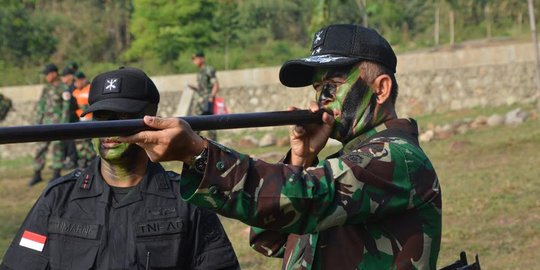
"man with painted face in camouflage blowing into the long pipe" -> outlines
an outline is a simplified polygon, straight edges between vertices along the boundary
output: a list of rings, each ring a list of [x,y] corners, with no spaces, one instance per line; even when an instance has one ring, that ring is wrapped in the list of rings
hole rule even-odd
[[[286,62],[281,82],[312,85],[323,124],[290,129],[282,162],[204,140],[175,118],[125,137],[152,160],[181,160],[181,196],[252,227],[252,247],[283,269],[435,269],[441,190],[413,119],[395,112],[397,58],[372,29],[330,25],[311,56]],[[328,138],[343,148],[324,160]]]

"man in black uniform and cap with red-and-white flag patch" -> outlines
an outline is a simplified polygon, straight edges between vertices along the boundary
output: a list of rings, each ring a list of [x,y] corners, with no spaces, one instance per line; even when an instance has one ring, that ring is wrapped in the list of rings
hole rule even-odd
[[[156,115],[159,92],[141,70],[91,83],[94,120]],[[95,138],[100,157],[52,181],[28,214],[0,269],[238,269],[214,213],[178,198],[180,177],[135,144]]]

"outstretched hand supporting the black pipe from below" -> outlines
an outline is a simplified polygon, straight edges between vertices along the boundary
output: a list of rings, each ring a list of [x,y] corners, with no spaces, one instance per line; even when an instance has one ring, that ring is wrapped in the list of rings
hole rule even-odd
[[[193,156],[201,153],[207,146],[207,142],[180,118],[145,116],[144,123],[157,130],[120,137],[119,141],[139,145],[153,162],[190,162]]]

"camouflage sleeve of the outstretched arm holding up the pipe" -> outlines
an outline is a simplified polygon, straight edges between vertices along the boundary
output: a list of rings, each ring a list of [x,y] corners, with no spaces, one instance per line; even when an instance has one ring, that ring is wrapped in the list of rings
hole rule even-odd
[[[203,177],[183,171],[181,196],[252,226],[306,234],[403,212],[433,199],[436,176],[423,184],[410,181],[418,178],[410,174],[424,170],[433,168],[420,149],[406,142],[365,145],[306,170],[212,144]]]

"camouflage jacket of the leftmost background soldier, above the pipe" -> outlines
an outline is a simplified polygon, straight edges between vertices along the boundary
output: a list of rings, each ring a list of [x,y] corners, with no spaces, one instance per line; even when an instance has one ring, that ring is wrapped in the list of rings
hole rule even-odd
[[[71,93],[67,85],[57,81],[57,85],[47,83],[43,87],[37,103],[36,124],[66,123],[70,117]]]

